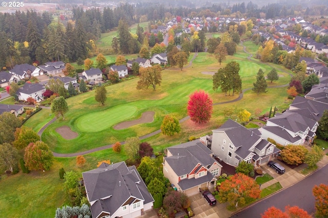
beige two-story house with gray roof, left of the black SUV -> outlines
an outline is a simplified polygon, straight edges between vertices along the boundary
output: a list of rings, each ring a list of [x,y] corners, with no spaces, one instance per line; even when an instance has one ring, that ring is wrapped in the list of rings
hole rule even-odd
[[[247,129],[232,119],[212,132],[209,147],[218,158],[233,166],[241,161],[259,166],[280,152],[274,144],[260,137],[257,129]]]

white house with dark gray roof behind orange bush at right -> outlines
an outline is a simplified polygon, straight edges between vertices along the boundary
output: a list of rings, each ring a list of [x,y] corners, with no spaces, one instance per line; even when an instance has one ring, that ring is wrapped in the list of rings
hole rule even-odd
[[[311,143],[317,131],[318,122],[309,108],[289,110],[267,120],[261,127],[261,137],[272,138],[283,146],[287,144]]]

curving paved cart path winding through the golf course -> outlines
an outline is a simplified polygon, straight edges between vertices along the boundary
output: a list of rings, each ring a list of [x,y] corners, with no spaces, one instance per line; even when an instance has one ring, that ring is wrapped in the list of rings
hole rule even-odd
[[[241,45],[242,42],[241,42]],[[247,52],[246,51],[246,47],[243,45],[243,51],[247,54],[249,54],[249,56],[247,57],[248,60],[250,61],[253,61],[253,62],[259,62],[259,61],[256,61],[256,60],[251,60],[251,57],[253,56],[251,53]],[[195,60],[197,57],[196,54],[194,54],[194,57],[192,58],[192,60],[190,61],[190,63],[186,66],[186,67],[190,67],[191,64],[192,64],[192,61]],[[269,66],[271,66],[270,64],[268,63],[265,63]],[[184,68],[186,68],[184,67]],[[272,67],[272,66],[271,66]],[[180,68],[171,68],[171,69],[177,69],[179,70]],[[289,74],[290,76],[292,76],[292,74],[290,74],[290,72],[287,72],[285,70],[282,70],[282,69],[279,69],[280,71],[283,71],[285,72],[286,74]],[[285,85],[280,85],[280,86],[271,86],[271,87],[268,87],[268,88],[279,88],[279,87],[286,87],[288,86],[289,84],[285,84]],[[213,105],[223,105],[223,104],[229,104],[229,103],[233,103],[233,102],[237,102],[237,101],[240,101],[242,98],[243,98],[243,93],[245,91],[249,91],[251,90],[252,88],[245,88],[245,89],[242,89],[242,91],[239,93],[239,96],[237,99],[234,99],[234,100],[231,100],[231,101],[227,101],[227,102],[220,102],[220,103],[214,103]],[[190,117],[189,116],[186,116],[186,117],[183,117],[182,119],[179,120],[179,123],[183,123],[185,122],[186,120],[188,120]],[[44,127],[42,127],[39,131],[38,131],[38,135],[41,136],[42,133],[44,132],[44,130],[50,125],[52,124],[53,122],[55,122],[56,118],[53,118],[52,120],[50,120],[49,123],[47,123]],[[139,139],[146,139],[146,138],[149,138],[151,136],[154,136],[154,135],[157,135],[161,132],[161,130],[156,130],[155,132],[151,132],[147,135],[143,135],[143,136],[140,136]],[[125,141],[121,141],[120,142],[121,144],[125,144]],[[98,147],[98,148],[94,148],[94,149],[90,149],[88,151],[83,151],[83,152],[77,152],[77,153],[70,153],[70,154],[60,154],[60,153],[56,153],[56,152],[52,152],[53,155],[55,157],[76,157],[76,156],[79,156],[79,155],[86,155],[86,154],[90,154],[90,153],[93,153],[93,152],[97,152],[97,151],[101,151],[101,150],[105,150],[105,149],[110,149],[113,147],[114,144],[109,144],[107,146],[102,146],[102,147]]]

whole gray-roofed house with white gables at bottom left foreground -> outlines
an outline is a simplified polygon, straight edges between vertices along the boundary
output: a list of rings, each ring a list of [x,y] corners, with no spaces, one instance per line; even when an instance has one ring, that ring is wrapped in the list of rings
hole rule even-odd
[[[82,175],[93,218],[133,218],[153,207],[154,199],[136,167],[124,161],[102,163]]]

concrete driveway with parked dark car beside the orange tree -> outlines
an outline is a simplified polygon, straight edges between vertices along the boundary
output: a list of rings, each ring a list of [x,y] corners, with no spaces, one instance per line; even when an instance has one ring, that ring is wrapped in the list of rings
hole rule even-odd
[[[191,208],[195,213],[194,217],[196,218],[226,218],[232,215],[232,212],[226,209],[227,203],[220,204],[217,202],[215,206],[210,206],[200,193],[190,196],[189,199],[191,201]]]

